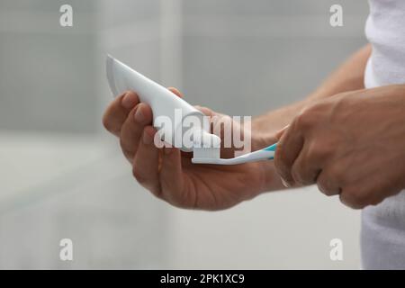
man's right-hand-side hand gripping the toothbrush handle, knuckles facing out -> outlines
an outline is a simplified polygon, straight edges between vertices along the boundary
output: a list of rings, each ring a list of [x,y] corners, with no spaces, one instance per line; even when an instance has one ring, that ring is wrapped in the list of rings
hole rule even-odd
[[[353,208],[405,187],[405,85],[337,94],[304,109],[277,146],[289,185],[318,184]]]

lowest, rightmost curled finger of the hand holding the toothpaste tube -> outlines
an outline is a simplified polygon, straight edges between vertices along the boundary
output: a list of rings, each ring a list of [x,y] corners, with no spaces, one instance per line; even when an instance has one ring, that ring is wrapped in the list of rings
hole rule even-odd
[[[188,206],[179,149],[164,148],[159,178],[163,199],[177,207]]]

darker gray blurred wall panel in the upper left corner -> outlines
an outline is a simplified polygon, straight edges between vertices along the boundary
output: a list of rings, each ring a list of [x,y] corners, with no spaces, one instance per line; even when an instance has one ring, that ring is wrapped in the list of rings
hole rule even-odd
[[[75,28],[58,25],[63,1],[0,4],[0,129],[94,131],[94,1],[71,1]]]

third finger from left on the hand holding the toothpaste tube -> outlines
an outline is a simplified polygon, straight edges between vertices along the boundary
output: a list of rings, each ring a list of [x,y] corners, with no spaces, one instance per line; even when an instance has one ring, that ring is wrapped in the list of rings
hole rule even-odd
[[[158,197],[161,190],[158,178],[159,150],[153,142],[155,133],[156,130],[152,126],[146,126],[143,130],[133,160],[132,174],[139,184]]]

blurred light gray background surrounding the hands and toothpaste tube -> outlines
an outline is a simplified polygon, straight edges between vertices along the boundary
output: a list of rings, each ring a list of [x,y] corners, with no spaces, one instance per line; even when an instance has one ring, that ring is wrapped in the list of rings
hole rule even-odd
[[[62,4],[73,27],[59,25]],[[332,4],[343,27],[329,25]],[[173,208],[132,179],[101,117],[107,53],[190,103],[258,115],[364,45],[367,13],[350,0],[2,0],[0,268],[360,268],[359,213],[338,199],[308,187],[227,211]],[[332,238],[343,261],[329,259]]]

